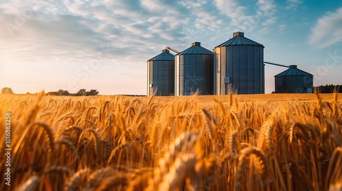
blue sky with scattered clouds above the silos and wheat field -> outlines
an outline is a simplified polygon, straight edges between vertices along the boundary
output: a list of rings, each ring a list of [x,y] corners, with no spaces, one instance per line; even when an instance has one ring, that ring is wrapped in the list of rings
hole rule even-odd
[[[146,94],[146,61],[171,46],[212,50],[243,31],[265,61],[342,84],[342,1],[0,0],[0,88]],[[265,65],[265,92],[286,70]]]

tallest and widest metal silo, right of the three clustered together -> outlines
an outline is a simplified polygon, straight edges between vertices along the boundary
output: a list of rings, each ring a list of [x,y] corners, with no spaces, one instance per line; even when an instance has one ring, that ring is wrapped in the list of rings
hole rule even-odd
[[[225,95],[265,93],[263,44],[254,42],[244,33],[214,48],[214,93]]]

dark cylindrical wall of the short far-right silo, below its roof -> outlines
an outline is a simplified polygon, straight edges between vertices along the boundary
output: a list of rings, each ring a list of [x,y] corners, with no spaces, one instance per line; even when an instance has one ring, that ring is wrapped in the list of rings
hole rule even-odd
[[[276,76],[276,93],[308,93],[313,88],[313,76]]]

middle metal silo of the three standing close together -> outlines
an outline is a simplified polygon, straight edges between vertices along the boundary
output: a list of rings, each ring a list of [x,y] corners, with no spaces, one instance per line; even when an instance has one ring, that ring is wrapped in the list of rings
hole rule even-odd
[[[175,58],[176,95],[213,94],[213,52],[193,42]]]

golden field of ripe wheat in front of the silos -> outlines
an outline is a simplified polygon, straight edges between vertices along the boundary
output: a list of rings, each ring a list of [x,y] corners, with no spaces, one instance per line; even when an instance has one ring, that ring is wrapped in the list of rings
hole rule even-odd
[[[0,95],[0,190],[341,190],[341,98]]]

